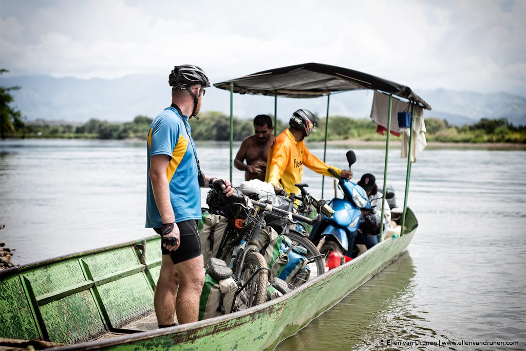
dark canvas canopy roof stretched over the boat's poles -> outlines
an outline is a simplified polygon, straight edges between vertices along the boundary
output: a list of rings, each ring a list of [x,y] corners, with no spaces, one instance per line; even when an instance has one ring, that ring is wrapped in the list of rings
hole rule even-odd
[[[215,87],[230,90],[234,83],[234,92],[239,94],[270,95],[283,97],[309,98],[328,95],[335,92],[373,89],[406,98],[420,104],[423,108],[431,106],[411,88],[352,69],[306,63],[288,67],[268,69],[230,81],[214,84]]]

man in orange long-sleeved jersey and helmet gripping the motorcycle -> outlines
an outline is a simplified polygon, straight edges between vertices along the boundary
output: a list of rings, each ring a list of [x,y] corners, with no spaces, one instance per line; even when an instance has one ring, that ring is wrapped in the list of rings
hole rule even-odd
[[[270,146],[265,176],[267,183],[271,183],[278,190],[284,188],[289,194],[299,194],[299,189],[294,184],[301,183],[303,166],[326,176],[332,176],[328,171],[332,168],[340,177],[352,178],[352,172],[327,165],[311,154],[305,146],[303,139],[318,127],[312,112],[299,109],[290,117],[289,125],[290,127],[278,135]]]

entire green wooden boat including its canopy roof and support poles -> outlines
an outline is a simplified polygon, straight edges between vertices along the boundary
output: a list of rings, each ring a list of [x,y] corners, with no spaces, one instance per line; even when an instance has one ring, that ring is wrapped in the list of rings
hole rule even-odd
[[[386,194],[388,178],[389,132],[399,128],[391,115],[407,112],[407,145],[402,148],[411,154],[416,139],[413,124],[421,118],[422,109],[431,108],[407,86],[317,63],[269,69],[215,86],[230,91],[231,142],[234,93],[271,96],[275,104],[278,97],[327,96],[326,127],[331,94],[361,89],[381,94],[387,101],[382,194]],[[396,104],[403,104],[403,109],[393,109]],[[232,147],[230,178],[231,167]],[[418,227],[407,206],[410,174],[408,157],[403,207],[392,214],[399,235],[380,236],[381,242],[367,252],[310,277],[282,296],[196,323],[157,329],[153,292],[160,270],[159,236],[2,270],[0,348],[274,349],[405,252]]]

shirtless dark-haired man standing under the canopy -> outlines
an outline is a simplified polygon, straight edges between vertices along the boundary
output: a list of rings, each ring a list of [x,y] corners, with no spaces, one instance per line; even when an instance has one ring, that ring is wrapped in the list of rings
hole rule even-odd
[[[234,166],[239,171],[245,171],[245,180],[265,181],[268,151],[276,139],[272,132],[274,126],[269,116],[257,115],[254,118],[254,135],[245,138],[234,160]],[[244,164],[245,159],[247,164]]]

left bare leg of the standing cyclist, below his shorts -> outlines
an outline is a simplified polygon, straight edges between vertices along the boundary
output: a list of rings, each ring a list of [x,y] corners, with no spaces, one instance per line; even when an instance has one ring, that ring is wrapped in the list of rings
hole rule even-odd
[[[154,294],[154,308],[159,325],[174,323],[179,278],[170,255],[162,255],[161,269]],[[201,259],[202,260],[202,259]]]

